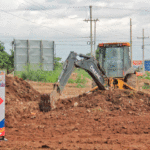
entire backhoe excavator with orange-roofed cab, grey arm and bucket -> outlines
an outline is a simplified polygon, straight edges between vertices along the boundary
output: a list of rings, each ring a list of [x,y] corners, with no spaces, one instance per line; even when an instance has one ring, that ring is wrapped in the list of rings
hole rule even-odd
[[[55,103],[74,68],[82,68],[92,77],[97,86],[94,86],[89,92],[109,88],[136,90],[136,70],[131,67],[129,47],[129,43],[101,43],[98,45],[99,61],[93,56],[78,55],[71,51],[64,62],[57,83],[53,85],[52,93],[41,96],[40,110],[48,112],[56,108]],[[77,59],[78,56],[81,58],[80,60]]]

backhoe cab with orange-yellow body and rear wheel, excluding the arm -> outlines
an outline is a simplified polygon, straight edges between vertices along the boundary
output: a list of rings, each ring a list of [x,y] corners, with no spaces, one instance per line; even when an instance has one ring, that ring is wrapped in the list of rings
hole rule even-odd
[[[99,63],[105,70],[106,76],[116,85],[117,88],[123,89],[124,85],[135,88],[136,74],[135,69],[131,67],[130,43],[100,43]],[[133,81],[133,82],[131,82]]]

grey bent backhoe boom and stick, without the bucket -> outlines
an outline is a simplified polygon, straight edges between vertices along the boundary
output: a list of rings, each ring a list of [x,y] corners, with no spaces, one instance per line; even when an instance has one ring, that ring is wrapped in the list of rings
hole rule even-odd
[[[77,60],[77,56],[83,58]],[[99,63],[94,57],[86,56],[83,54],[77,55],[75,52],[70,52],[68,58],[66,59],[63,70],[59,76],[58,82],[54,84],[54,89],[58,93],[61,93],[71,76],[74,68],[82,68],[93,78],[100,90],[105,90],[104,87],[104,78],[105,72],[100,67]]]

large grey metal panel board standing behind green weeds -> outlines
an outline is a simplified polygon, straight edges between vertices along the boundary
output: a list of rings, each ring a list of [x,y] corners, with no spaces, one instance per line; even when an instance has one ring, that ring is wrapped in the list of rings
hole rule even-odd
[[[14,53],[15,71],[23,71],[27,63],[34,70],[54,68],[54,41],[14,40]]]

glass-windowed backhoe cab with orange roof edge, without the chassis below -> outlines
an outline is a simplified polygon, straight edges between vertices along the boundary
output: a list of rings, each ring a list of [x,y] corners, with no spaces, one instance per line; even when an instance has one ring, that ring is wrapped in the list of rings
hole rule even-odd
[[[131,68],[129,43],[101,43],[99,49],[99,63],[105,70],[107,77],[124,77]]]

